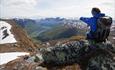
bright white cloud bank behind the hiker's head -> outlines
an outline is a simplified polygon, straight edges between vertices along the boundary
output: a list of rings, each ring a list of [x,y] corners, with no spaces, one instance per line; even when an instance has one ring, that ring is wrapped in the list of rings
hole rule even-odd
[[[105,5],[104,3],[109,3],[109,5]],[[90,13],[92,7],[99,7],[103,13],[106,13],[107,15],[114,17],[113,5],[114,0],[58,0],[56,1],[56,3],[51,2],[50,6],[44,9],[44,11],[42,12],[44,14],[42,15],[64,17],[89,17],[92,16]]]

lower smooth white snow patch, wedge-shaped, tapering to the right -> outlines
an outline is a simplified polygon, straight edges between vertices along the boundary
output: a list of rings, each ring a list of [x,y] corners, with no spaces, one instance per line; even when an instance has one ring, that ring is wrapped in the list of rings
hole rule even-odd
[[[6,64],[9,61],[19,58],[19,56],[29,55],[27,52],[9,52],[9,53],[0,53],[0,65]]]

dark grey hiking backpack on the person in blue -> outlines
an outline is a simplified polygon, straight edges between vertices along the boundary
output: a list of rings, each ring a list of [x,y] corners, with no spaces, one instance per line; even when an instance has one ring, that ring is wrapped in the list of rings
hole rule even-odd
[[[99,17],[97,19],[97,30],[94,33],[97,42],[105,42],[108,39],[111,24],[112,18],[109,16]]]

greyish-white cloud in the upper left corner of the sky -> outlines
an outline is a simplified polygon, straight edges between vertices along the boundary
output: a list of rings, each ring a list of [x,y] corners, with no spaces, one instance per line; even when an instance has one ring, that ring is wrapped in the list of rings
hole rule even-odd
[[[1,0],[0,17],[31,17],[37,13],[37,0]]]

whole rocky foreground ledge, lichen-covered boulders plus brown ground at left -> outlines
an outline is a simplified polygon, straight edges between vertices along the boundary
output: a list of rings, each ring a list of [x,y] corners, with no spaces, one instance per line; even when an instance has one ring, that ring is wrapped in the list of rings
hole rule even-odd
[[[40,48],[35,55],[11,61],[2,69],[114,70],[115,47],[109,42],[70,41],[55,47]]]

